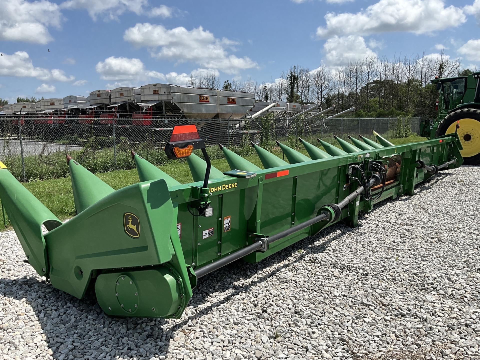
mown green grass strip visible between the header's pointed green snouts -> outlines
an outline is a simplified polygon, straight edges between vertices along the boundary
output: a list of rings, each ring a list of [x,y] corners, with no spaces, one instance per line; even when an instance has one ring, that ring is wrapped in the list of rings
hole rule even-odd
[[[414,143],[424,140],[426,140],[426,138],[420,136],[411,136],[401,139],[390,139],[390,141],[396,145]],[[331,143],[336,144],[336,142],[333,141]],[[298,148],[298,150],[301,153],[307,155],[305,149]],[[272,150],[272,153],[278,157],[282,157],[282,152],[279,150],[278,147],[274,148]],[[257,165],[258,167],[263,168],[262,163],[260,162],[260,159],[258,158],[258,156],[256,156],[256,154],[245,155],[243,157],[248,161],[252,162],[253,164]],[[225,158],[212,160],[212,165],[221,171],[230,170],[227,160]],[[170,162],[167,165],[159,166],[159,168],[182,184],[193,181],[190,169],[188,168],[186,161]],[[115,190],[118,190],[128,185],[132,185],[139,181],[136,169],[110,171],[104,173],[97,173],[96,175]],[[67,219],[75,215],[72,184],[69,177],[53,180],[31,181],[25,183],[24,186],[60,219]],[[10,225],[8,220],[7,225]]]

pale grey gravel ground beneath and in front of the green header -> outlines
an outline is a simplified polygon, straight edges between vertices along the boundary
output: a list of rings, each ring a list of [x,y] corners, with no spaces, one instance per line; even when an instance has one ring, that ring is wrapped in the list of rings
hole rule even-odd
[[[0,234],[0,359],[480,359],[480,167],[260,264],[199,281],[179,320],[107,317]]]

